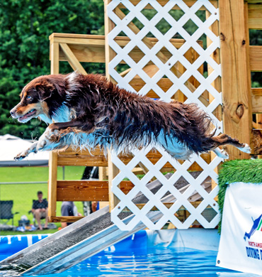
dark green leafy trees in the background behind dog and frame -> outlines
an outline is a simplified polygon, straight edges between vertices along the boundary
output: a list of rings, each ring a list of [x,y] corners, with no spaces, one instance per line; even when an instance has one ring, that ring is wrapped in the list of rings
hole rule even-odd
[[[128,13],[128,11],[125,11]],[[149,20],[154,10],[142,12]],[[178,20],[183,11],[170,11]],[[205,20],[205,11],[197,16]],[[18,103],[23,86],[39,75],[50,74],[49,40],[51,33],[84,33],[103,35],[103,0],[8,0],[0,1],[0,135],[13,134],[25,139],[37,138],[45,124],[33,119],[19,124],[11,119],[9,111]],[[134,21],[142,28],[139,21]],[[157,25],[161,33],[171,26],[164,20]],[[185,24],[188,33],[195,32],[195,24]],[[125,34],[120,34],[120,36]],[[152,34],[148,34],[150,37]],[[177,34],[174,38],[182,38]],[[205,48],[205,37],[201,37]],[[261,45],[262,31],[251,30],[250,44]],[[86,63],[87,72],[104,73],[101,64]],[[128,65],[120,65],[123,71]],[[205,65],[206,67],[206,65]],[[207,69],[204,67],[204,71]],[[60,63],[60,72],[72,72],[68,63]],[[262,86],[261,72],[252,73],[252,87]]]

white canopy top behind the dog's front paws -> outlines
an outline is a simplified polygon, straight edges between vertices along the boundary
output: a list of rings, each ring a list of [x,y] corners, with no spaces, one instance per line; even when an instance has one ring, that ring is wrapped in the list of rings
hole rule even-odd
[[[17,136],[9,134],[0,136],[0,167],[47,165],[49,160],[49,153],[47,151],[36,154],[30,153],[22,161],[13,160],[18,153],[29,148],[32,143],[32,141],[20,139]]]

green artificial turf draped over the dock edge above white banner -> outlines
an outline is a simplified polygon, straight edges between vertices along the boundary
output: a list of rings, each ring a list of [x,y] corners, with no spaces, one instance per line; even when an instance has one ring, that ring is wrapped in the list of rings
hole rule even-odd
[[[262,183],[262,160],[234,160],[227,161],[222,165],[218,176],[218,185],[220,186],[218,205],[221,214],[219,232],[221,232],[224,196],[227,186],[236,182]]]

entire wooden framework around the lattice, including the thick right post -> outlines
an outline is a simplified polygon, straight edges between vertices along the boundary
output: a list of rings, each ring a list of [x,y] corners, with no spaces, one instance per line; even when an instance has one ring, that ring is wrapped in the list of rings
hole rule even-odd
[[[195,1],[184,0],[188,6],[192,6]],[[137,4],[139,0],[132,0],[133,4]],[[166,4],[166,0],[158,1],[161,6]],[[224,132],[237,137],[239,141],[252,142],[252,114],[258,114],[256,127],[261,129],[261,114],[262,113],[262,89],[251,89],[251,74],[252,71],[262,71],[262,46],[249,45],[249,29],[262,29],[261,5],[262,1],[251,0],[219,0],[211,1],[213,5],[219,6],[220,9],[220,24],[215,24],[212,28],[220,32],[221,53],[217,55],[217,59],[221,59],[222,67],[222,82],[214,84],[217,87],[222,85],[223,109],[222,117],[224,123]],[[110,3],[110,0],[105,1],[105,6]],[[150,9],[150,8],[149,8]],[[176,9],[176,8],[174,8]],[[118,16],[121,13],[118,12]],[[107,35],[113,29],[113,22],[108,20],[106,16],[105,29],[106,36],[91,36],[91,35],[74,35],[53,33],[50,36],[50,60],[51,74],[59,73],[59,61],[67,61],[73,70],[86,74],[81,62],[86,63],[106,63],[106,72],[108,72],[108,64],[115,55],[113,50],[107,47]],[[136,32],[135,26],[130,26],[132,31]],[[234,36],[233,36],[234,31]],[[118,44],[125,46],[129,42],[127,37],[117,37]],[[144,43],[154,45],[154,38],[144,38]],[[208,40],[207,40],[207,43]],[[176,48],[183,45],[183,40],[173,40]],[[140,53],[134,48],[130,55],[134,60],[139,60]],[[169,57],[166,53],[160,52],[160,60],[167,60]],[[188,59],[195,59],[194,53],[189,53]],[[148,65],[148,72],[154,71],[154,68]],[[182,68],[174,67],[173,71],[179,75]],[[208,69],[212,70],[212,69]],[[127,72],[123,72],[125,75]],[[149,74],[148,73],[148,74]],[[108,74],[108,73],[107,73]],[[108,75],[108,77],[110,77]],[[134,86],[139,89],[139,80],[132,80]],[[169,80],[161,80],[162,87],[169,87]],[[194,80],[188,82],[188,88],[193,84]],[[155,97],[154,92],[148,95]],[[183,95],[177,94],[176,99],[181,100]],[[211,95],[203,95],[202,101]],[[219,112],[219,111],[218,111]],[[219,112],[220,113],[220,112]],[[245,131],[244,131],[245,130]],[[252,143],[251,143],[252,144]],[[236,148],[229,147],[227,149],[232,158],[249,158],[249,155],[241,153]],[[49,220],[50,222],[70,222],[76,221],[79,217],[57,217],[56,202],[67,201],[84,201],[84,200],[109,200],[110,207],[113,209],[118,204],[118,199],[110,192],[110,183],[115,175],[118,174],[118,168],[103,156],[103,153],[96,149],[91,156],[88,152],[74,152],[72,150],[64,153],[52,152],[50,155],[50,175],[49,175]],[[157,161],[158,153],[151,153],[152,161]],[[149,155],[149,156],[150,156]],[[212,156],[205,155],[205,161],[212,161]],[[125,163],[128,163],[132,156],[121,157]],[[59,165],[96,165],[108,167],[108,181],[99,181],[90,183],[90,181],[57,181],[57,166]],[[139,166],[139,165],[137,165]],[[169,168],[169,165],[165,165]],[[144,169],[146,170],[146,169]],[[199,170],[198,165],[191,170]],[[105,174],[104,174],[105,175]],[[108,188],[109,183],[109,188]],[[93,188],[96,187],[96,190]],[[121,190],[130,190],[132,184],[130,181],[121,183]],[[109,197],[108,197],[109,192]]]

